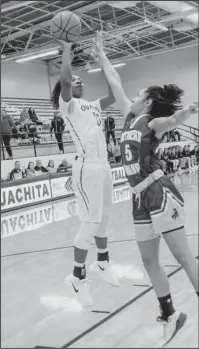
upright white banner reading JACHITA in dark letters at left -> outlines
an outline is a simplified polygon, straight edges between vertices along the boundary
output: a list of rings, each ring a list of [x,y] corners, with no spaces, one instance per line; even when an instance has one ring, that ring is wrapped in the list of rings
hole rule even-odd
[[[39,203],[51,199],[50,182],[19,184],[13,187],[1,188],[1,210]]]

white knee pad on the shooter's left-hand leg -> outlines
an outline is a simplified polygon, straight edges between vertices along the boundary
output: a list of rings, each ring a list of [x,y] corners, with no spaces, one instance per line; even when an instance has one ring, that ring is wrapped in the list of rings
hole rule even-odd
[[[92,237],[96,234],[99,229],[100,223],[87,223],[82,222],[80,230],[75,238],[75,247],[81,250],[88,250],[91,243]]]

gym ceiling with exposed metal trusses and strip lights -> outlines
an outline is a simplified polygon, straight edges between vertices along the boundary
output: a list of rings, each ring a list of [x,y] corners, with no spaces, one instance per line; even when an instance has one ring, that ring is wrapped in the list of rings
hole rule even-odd
[[[50,21],[61,10],[81,18],[82,32],[73,70],[88,70],[97,30],[113,63],[198,45],[198,1],[1,1],[1,60],[58,49],[48,58],[50,74],[60,66],[61,48],[52,40]]]

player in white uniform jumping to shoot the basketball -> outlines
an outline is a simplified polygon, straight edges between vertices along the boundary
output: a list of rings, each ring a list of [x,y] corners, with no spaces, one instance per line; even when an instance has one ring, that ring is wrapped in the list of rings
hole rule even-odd
[[[60,109],[75,143],[78,157],[73,165],[73,189],[80,208],[80,230],[74,242],[74,270],[66,278],[83,305],[92,304],[86,279],[85,262],[92,237],[98,250],[91,270],[112,285],[119,286],[109,264],[108,222],[112,207],[112,173],[107,161],[101,110],[115,99],[109,95],[94,102],[83,99],[83,82],[72,75],[71,44],[61,42],[63,57],[60,80],[54,87],[52,102]]]

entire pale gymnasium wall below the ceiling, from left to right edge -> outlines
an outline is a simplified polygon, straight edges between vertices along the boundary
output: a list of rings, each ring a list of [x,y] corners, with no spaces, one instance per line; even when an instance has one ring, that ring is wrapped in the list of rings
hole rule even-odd
[[[198,47],[133,60],[118,68],[118,72],[129,98],[151,84],[176,83],[185,90],[186,104],[198,96]],[[107,86],[101,72],[89,74],[80,71],[79,75],[85,83],[85,99],[94,100],[106,93]],[[51,77],[51,88],[57,79],[58,76]],[[40,62],[2,62],[1,95],[48,99],[47,65]],[[198,127],[197,116],[191,117],[187,124]]]

